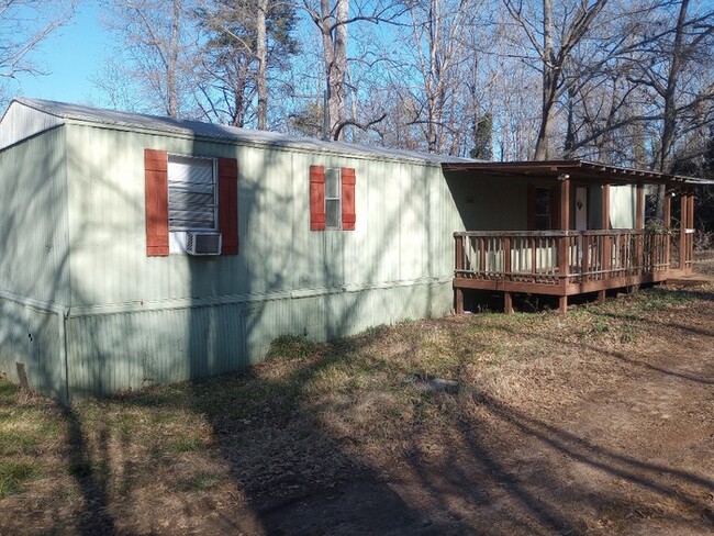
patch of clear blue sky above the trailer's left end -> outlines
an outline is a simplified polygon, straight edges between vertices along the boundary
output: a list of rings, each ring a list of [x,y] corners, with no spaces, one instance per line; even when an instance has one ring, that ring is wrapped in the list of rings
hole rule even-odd
[[[91,104],[98,93],[91,78],[107,56],[108,38],[94,2],[81,2],[72,23],[44,41],[32,56],[48,75],[23,76],[16,81],[12,97]]]

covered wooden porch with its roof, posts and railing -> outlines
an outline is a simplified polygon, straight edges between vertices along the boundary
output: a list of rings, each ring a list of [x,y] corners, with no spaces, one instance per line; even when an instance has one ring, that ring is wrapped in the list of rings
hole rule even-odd
[[[526,230],[454,233],[457,313],[464,312],[468,290],[502,292],[507,313],[513,311],[514,293],[555,295],[565,313],[572,295],[596,293],[601,301],[611,289],[662,282],[692,271],[693,186],[705,181],[580,160],[465,163],[445,170],[477,183],[497,179],[514,196],[528,198]],[[646,185],[665,188],[661,222],[647,228]],[[629,201],[621,203],[625,209],[612,205],[612,189],[617,187],[628,187],[624,191]],[[676,227],[673,202],[679,203],[681,222]],[[513,204],[524,205],[516,199]]]

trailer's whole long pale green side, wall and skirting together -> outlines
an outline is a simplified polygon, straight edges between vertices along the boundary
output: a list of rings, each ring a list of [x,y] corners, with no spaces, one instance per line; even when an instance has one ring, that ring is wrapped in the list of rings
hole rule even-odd
[[[453,305],[464,224],[440,167],[68,125],[69,390],[105,394],[243,368]],[[237,256],[145,256],[144,148],[234,157]],[[310,231],[310,165],[356,170],[355,231]]]

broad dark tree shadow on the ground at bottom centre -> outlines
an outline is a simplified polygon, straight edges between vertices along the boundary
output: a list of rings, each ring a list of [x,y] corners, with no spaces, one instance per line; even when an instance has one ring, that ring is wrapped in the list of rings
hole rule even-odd
[[[286,364],[279,379],[258,366],[196,382],[191,404],[214,427],[222,457],[267,534],[446,534],[392,491],[383,476],[331,437],[306,399],[336,355]],[[275,364],[268,364],[275,366]],[[247,401],[247,403],[246,403]],[[233,521],[245,529],[241,517]],[[250,527],[248,527],[249,529]]]

